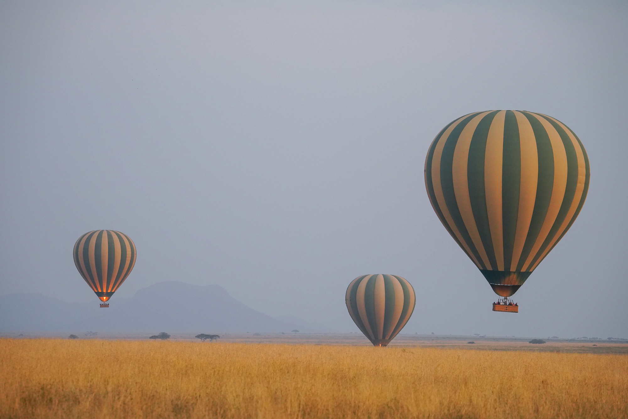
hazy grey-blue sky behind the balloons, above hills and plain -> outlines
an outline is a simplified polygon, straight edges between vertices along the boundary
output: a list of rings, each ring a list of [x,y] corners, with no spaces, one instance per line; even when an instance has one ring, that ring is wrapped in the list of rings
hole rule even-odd
[[[347,285],[390,273],[404,332],[628,337],[627,23],[619,1],[3,1],[0,293],[97,302],[72,246],[114,229],[138,259],[112,307],[216,283],[357,331]],[[489,109],[560,119],[591,163],[516,315],[423,182],[438,131]]]

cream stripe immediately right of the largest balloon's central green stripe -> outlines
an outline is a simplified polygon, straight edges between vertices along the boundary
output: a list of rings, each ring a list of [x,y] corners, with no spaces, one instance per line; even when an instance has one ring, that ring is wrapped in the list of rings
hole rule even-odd
[[[519,146],[521,148],[521,186],[519,187],[519,211],[517,229],[512,249],[511,271],[517,270],[521,251],[528,237],[530,221],[536,200],[536,184],[539,178],[539,156],[536,151],[536,138],[528,119],[518,111],[513,111],[519,126]]]

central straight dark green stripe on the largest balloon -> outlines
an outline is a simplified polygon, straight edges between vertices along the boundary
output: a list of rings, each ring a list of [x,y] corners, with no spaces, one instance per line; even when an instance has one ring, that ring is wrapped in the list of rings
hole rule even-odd
[[[514,112],[504,117],[504,149],[502,151],[502,227],[504,231],[504,268],[510,269],[514,236],[519,214],[521,188],[521,144],[519,124]]]

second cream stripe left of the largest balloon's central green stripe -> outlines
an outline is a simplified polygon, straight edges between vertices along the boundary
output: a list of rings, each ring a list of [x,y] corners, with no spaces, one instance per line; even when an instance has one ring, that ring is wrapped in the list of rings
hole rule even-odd
[[[474,119],[468,122],[467,126],[462,129],[458,142],[456,143],[456,149],[453,151],[453,192],[456,195],[456,202],[458,204],[458,210],[462,220],[467,227],[467,232],[471,237],[480,254],[480,258],[484,261],[484,266],[487,269],[493,269],[490,264],[489,256],[486,254],[484,244],[480,238],[480,232],[477,231],[477,224],[475,224],[475,217],[473,215],[473,209],[471,208],[471,198],[469,197],[469,183],[468,183],[468,158],[469,148],[471,146],[471,139],[477,128],[477,124],[482,121],[482,118],[487,116],[492,111],[482,112]]]

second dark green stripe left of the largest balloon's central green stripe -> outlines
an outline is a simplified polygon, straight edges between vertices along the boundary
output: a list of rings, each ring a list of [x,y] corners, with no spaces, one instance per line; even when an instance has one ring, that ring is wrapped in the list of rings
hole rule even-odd
[[[477,249],[475,248],[475,244],[469,236],[467,227],[462,220],[462,215],[460,215],[460,209],[458,209],[458,204],[456,202],[456,195],[453,189],[453,153],[456,150],[456,144],[458,143],[458,138],[460,138],[460,133],[467,126],[468,122],[471,121],[475,116],[479,115],[482,112],[476,112],[475,114],[470,114],[467,116],[460,124],[456,126],[452,130],[450,136],[445,139],[445,146],[443,147],[443,155],[440,160],[440,184],[443,189],[443,196],[445,197],[445,204],[447,205],[447,209],[449,210],[450,215],[452,216],[452,220],[456,227],[458,227],[458,231],[460,231],[460,236],[467,243],[468,248],[474,254],[475,259],[480,263],[482,269],[486,269],[484,266],[484,261],[480,257]]]

